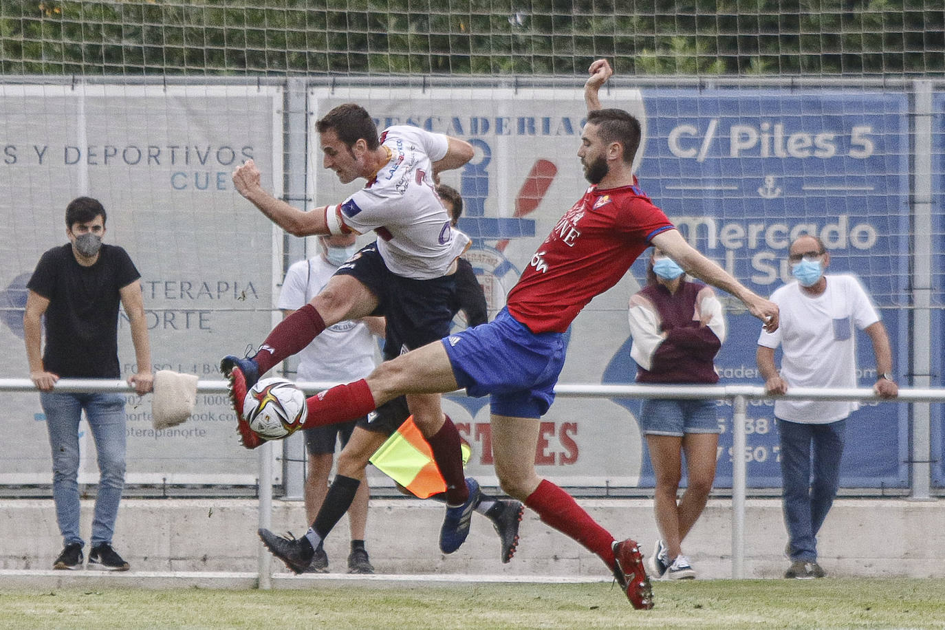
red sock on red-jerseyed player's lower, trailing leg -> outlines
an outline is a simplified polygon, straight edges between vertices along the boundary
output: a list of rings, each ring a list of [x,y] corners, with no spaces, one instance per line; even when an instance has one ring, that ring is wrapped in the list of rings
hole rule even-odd
[[[613,570],[613,536],[597,524],[570,494],[547,479],[542,479],[541,484],[525,499],[525,505],[538,512],[542,522],[571,536],[599,555]]]

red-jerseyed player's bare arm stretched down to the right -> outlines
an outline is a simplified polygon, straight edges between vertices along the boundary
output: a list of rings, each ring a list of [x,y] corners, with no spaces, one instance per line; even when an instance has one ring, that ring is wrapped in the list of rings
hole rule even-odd
[[[728,271],[700,254],[682,238],[678,230],[666,230],[653,237],[653,245],[660,247],[691,276],[706,281],[742,300],[748,313],[765,323],[765,331],[778,330],[778,305],[756,295]]]

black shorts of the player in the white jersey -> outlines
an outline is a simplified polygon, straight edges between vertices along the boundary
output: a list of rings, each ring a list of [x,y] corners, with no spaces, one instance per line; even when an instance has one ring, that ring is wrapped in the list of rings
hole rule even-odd
[[[387,317],[384,358],[418,349],[450,333],[456,301],[455,274],[432,280],[413,280],[391,272],[377,244],[362,247],[342,264],[337,275],[353,276],[377,298],[371,315]],[[396,429],[395,429],[396,430]]]

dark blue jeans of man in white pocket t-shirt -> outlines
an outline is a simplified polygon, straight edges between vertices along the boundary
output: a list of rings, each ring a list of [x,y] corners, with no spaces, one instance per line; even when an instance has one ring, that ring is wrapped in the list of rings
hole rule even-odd
[[[847,420],[803,424],[778,418],[784,525],[791,560],[816,562],[817,532],[840,486]]]

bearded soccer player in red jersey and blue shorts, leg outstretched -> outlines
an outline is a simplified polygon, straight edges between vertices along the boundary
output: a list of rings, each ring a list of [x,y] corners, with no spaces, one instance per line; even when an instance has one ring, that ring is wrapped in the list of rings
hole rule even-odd
[[[749,291],[702,256],[644,195],[632,173],[640,124],[626,111],[594,109],[612,71],[591,66],[585,87],[588,121],[577,150],[591,182],[541,244],[507,306],[488,324],[456,332],[378,366],[367,379],[309,399],[306,426],[360,417],[404,394],[465,388],[491,396],[492,454],[503,489],[541,520],[571,536],[607,564],[636,608],[653,605],[643,556],[631,539],[618,542],[567,492],[535,469],[540,418],[554,400],[564,366],[563,333],[584,306],[610,289],[650,246],[691,276],[741,299],[751,315],[778,328],[778,307]]]

